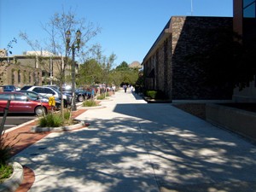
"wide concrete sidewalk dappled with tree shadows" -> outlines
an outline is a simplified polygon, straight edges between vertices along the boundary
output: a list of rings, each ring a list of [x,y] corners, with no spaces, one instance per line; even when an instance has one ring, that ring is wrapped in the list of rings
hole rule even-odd
[[[256,147],[172,107],[116,92],[79,115],[90,126],[53,132],[15,156],[30,191],[256,191]]]

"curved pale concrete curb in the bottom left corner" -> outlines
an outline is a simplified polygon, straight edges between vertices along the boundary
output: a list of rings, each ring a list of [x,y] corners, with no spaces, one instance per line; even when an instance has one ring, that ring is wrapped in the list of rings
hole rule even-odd
[[[0,184],[0,192],[13,192],[23,181],[23,167],[18,162],[12,163],[14,172],[11,177]]]

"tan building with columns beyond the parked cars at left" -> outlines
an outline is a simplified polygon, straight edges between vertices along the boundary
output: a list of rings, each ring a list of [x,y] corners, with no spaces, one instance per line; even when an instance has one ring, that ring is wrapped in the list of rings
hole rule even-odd
[[[57,84],[60,76],[63,56],[48,51],[27,51],[24,55],[8,56],[0,49],[0,84],[15,86]],[[71,74],[71,66],[66,70]]]

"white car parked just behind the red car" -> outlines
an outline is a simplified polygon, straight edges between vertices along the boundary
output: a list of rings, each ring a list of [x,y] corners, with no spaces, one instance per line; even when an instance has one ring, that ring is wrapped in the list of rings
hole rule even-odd
[[[22,89],[21,89],[22,90]],[[61,100],[61,92],[59,90],[55,90],[52,87],[46,87],[46,86],[32,86],[27,90],[32,90],[41,96],[55,96],[55,100]],[[63,94],[63,101],[64,101],[64,107],[67,108],[68,105],[71,105],[72,97],[69,95]]]

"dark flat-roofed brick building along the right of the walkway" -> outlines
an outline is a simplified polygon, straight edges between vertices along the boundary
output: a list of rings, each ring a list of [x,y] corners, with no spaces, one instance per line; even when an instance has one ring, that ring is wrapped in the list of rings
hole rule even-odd
[[[210,49],[216,39],[209,32],[232,26],[231,17],[172,16],[143,59],[145,89],[161,90],[171,100],[231,99],[233,89],[204,84],[206,73],[188,56]]]

